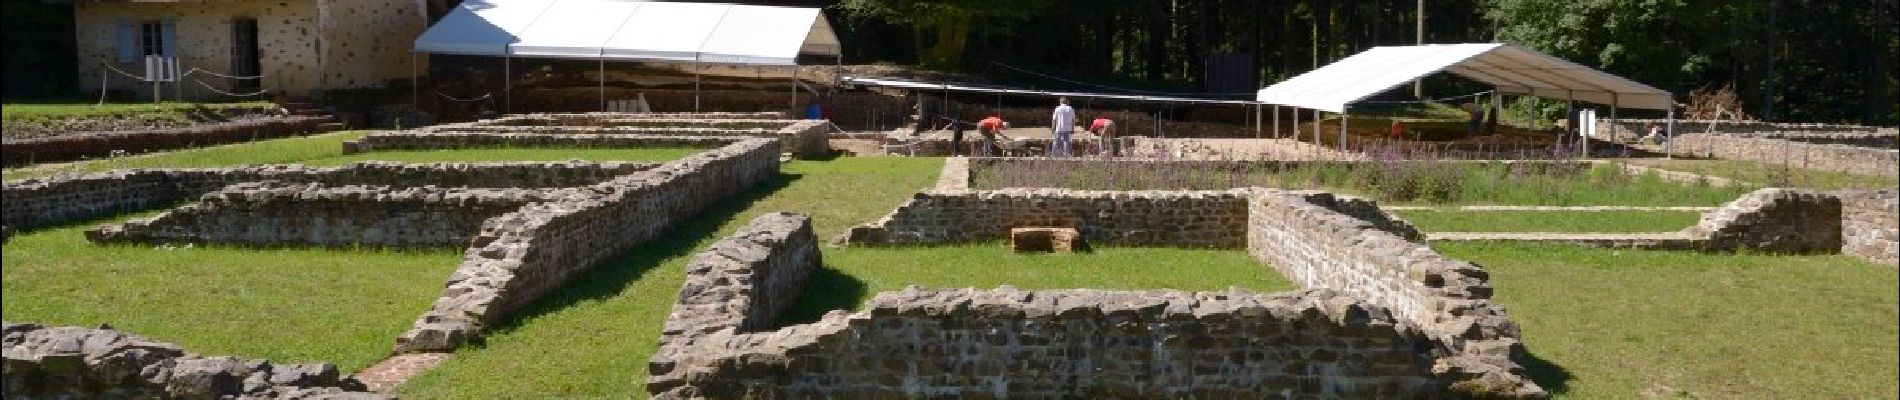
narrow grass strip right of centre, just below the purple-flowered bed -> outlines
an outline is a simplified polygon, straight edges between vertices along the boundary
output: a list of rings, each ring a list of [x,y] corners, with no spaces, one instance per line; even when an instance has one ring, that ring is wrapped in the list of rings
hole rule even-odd
[[[1395,210],[1419,231],[1678,231],[1687,210]]]

